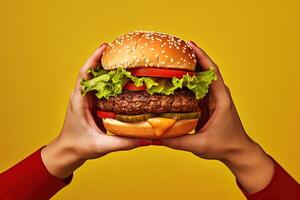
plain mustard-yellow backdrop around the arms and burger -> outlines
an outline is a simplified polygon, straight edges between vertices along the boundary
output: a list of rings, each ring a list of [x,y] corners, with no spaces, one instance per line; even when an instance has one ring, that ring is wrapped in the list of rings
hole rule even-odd
[[[142,29],[203,47],[249,135],[299,181],[298,2],[1,0],[0,171],[59,133],[77,72],[97,46]],[[53,199],[243,196],[221,163],[147,147],[87,162]]]

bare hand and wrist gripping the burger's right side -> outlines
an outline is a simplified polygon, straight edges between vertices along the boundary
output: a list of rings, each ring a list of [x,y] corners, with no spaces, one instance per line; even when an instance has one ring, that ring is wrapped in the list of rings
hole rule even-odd
[[[217,65],[193,42],[198,62],[204,70],[211,67],[217,80],[203,101],[203,113],[208,120],[196,134],[162,140],[162,145],[185,150],[205,159],[223,162],[236,176],[247,192],[263,189],[273,176],[274,166],[270,157],[246,134]]]

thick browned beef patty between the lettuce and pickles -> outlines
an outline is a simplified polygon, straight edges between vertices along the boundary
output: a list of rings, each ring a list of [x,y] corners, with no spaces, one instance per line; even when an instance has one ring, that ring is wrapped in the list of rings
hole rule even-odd
[[[188,90],[177,90],[173,95],[149,94],[146,91],[127,91],[108,100],[99,99],[103,111],[117,114],[144,114],[199,111],[199,100]]]

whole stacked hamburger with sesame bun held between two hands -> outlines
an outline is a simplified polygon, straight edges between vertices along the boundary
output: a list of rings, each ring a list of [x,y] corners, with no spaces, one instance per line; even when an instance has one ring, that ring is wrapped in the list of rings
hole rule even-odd
[[[213,69],[196,69],[196,56],[182,39],[137,31],[119,36],[89,69],[82,95],[93,92],[97,116],[108,133],[135,138],[169,138],[192,132],[199,102],[216,79]]]

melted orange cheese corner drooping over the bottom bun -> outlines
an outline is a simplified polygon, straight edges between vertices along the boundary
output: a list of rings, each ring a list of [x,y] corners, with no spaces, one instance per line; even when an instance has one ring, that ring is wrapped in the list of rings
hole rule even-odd
[[[156,136],[160,137],[168,130],[171,126],[176,123],[175,119],[154,117],[147,120],[152,126]]]

